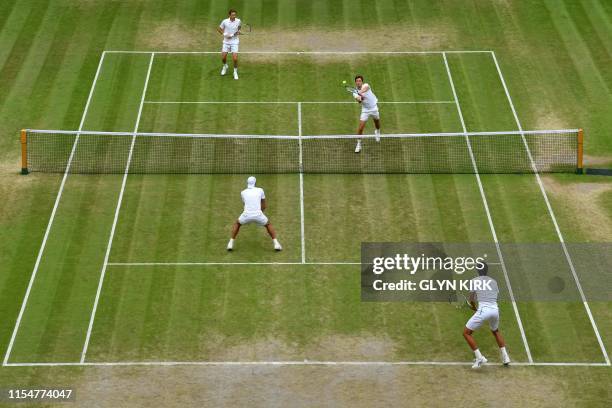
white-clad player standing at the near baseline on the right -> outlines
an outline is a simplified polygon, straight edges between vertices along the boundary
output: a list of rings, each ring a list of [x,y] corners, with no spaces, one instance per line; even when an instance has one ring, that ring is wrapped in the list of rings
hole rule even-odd
[[[468,320],[468,322],[465,324],[465,328],[463,329],[463,337],[474,352],[475,359],[472,368],[480,368],[487,362],[485,356],[483,356],[480,350],[478,350],[476,340],[474,340],[474,337],[472,336],[472,333],[474,333],[475,330],[478,330],[485,323],[489,323],[491,333],[493,333],[495,341],[497,341],[497,345],[499,346],[502,362],[505,366],[507,366],[510,364],[510,356],[508,356],[508,352],[506,351],[506,343],[504,338],[499,332],[499,308],[497,307],[499,288],[495,279],[487,276],[489,270],[487,264],[484,264],[482,268],[477,268],[477,270],[478,277],[472,280],[480,280],[483,282],[488,281],[491,289],[475,290],[474,292],[470,293],[469,301],[472,305],[472,309],[475,310],[476,313],[474,313],[470,320]],[[478,307],[476,307],[476,302],[478,302]]]

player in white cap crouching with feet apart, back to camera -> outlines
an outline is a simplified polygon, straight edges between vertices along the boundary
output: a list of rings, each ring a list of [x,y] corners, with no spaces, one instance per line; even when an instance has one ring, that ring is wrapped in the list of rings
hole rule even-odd
[[[255,177],[249,177],[247,179],[247,188],[242,190],[240,193],[242,202],[244,203],[244,211],[232,227],[232,238],[227,244],[228,251],[234,249],[234,240],[238,236],[240,227],[244,224],[250,223],[255,223],[257,225],[266,227],[268,234],[270,234],[270,237],[272,238],[274,249],[277,251],[283,249],[276,239],[276,232],[274,231],[274,228],[272,228],[272,224],[270,224],[268,217],[266,217],[266,215],[263,213],[266,209],[266,194],[264,193],[263,188],[255,187],[256,182],[257,180]]]

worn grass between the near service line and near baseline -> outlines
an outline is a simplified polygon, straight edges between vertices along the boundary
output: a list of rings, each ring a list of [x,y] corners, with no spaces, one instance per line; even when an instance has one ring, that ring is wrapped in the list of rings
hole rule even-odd
[[[122,296],[103,299],[92,361],[452,361],[468,355],[457,334],[468,313],[447,304],[361,303],[354,267],[120,268],[107,287]],[[520,342],[506,326],[509,341]],[[495,358],[489,336],[478,335]],[[513,351],[520,359],[520,350]]]

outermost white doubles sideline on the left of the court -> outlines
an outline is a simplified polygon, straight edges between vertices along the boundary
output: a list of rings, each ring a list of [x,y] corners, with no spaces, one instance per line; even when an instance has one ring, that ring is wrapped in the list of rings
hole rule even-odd
[[[21,309],[19,309],[19,315],[17,316],[17,321],[15,323],[15,327],[13,329],[13,334],[11,335],[11,340],[9,341],[8,347],[6,349],[6,354],[4,355],[4,360],[2,365],[6,365],[10,356],[11,351],[13,350],[13,345],[15,343],[15,338],[17,337],[17,332],[19,331],[19,325],[21,324],[21,319],[23,318],[23,314],[25,312],[26,305],[28,303],[28,299],[30,297],[30,292],[32,291],[32,286],[34,285],[34,280],[36,279],[36,274],[38,273],[38,268],[40,266],[40,261],[42,259],[43,252],[45,251],[45,247],[47,245],[47,239],[49,238],[49,233],[51,232],[51,227],[53,226],[53,221],[55,220],[55,214],[57,213],[57,208],[59,207],[60,200],[62,198],[62,193],[64,191],[64,186],[66,185],[66,179],[68,178],[68,173],[70,171],[70,166],[72,165],[72,158],[74,157],[74,153],[76,151],[77,143],[79,141],[79,132],[83,130],[83,125],[85,124],[85,118],[87,117],[87,112],[89,110],[89,105],[91,103],[91,99],[93,97],[94,89],[96,87],[96,83],[98,82],[98,77],[100,76],[100,71],[102,70],[102,63],[104,62],[104,56],[106,54],[102,52],[100,56],[100,61],[98,62],[98,68],[96,69],[96,75],[94,76],[93,82],[91,84],[91,88],[89,90],[89,95],[87,96],[87,102],[85,103],[85,109],[83,110],[83,116],[81,116],[81,122],[79,123],[79,130],[76,133],[76,137],[74,139],[74,143],[72,145],[72,150],[70,151],[70,157],[68,158],[68,163],[66,165],[66,171],[64,172],[64,176],[62,177],[62,182],[60,184],[59,191],[57,192],[57,197],[55,198],[55,204],[53,204],[53,210],[51,211],[51,216],[49,218],[49,222],[47,223],[47,229],[45,230],[45,235],[43,236],[43,241],[40,245],[40,249],[38,251],[38,256],[36,257],[36,263],[34,264],[34,269],[32,270],[32,275],[30,276],[30,282],[28,283],[28,287],[26,289],[25,296],[23,298],[23,302],[21,303]]]

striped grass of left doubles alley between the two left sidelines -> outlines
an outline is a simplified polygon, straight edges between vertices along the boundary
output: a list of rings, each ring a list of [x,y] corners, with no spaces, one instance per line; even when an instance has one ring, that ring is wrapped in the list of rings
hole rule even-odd
[[[94,90],[85,126],[95,123],[96,119],[97,123],[104,123],[106,119],[106,126],[110,128],[121,126],[122,121],[127,122],[129,105],[119,102],[102,109],[104,104],[97,99],[106,96],[106,91],[110,90],[120,101],[129,100],[127,94],[136,89],[129,68],[121,71],[127,73],[128,78],[132,76],[131,81],[126,82],[125,78],[112,75],[112,69],[105,71],[109,67],[112,67],[112,61],[109,66],[104,64],[102,67],[101,81],[97,84],[99,88]],[[133,68],[139,68],[138,64]],[[108,80],[104,78],[105,74],[109,74]],[[142,88],[142,82],[138,88]],[[115,114],[113,109],[122,112]],[[136,112],[132,111],[131,121],[135,115]],[[76,157],[78,152],[77,146]],[[83,341],[95,281],[102,264],[103,240],[108,234],[120,185],[117,180],[117,176],[68,178],[33,287],[33,301],[26,308],[17,335],[13,358],[27,361],[33,354],[41,361],[74,359],[78,344]]]

